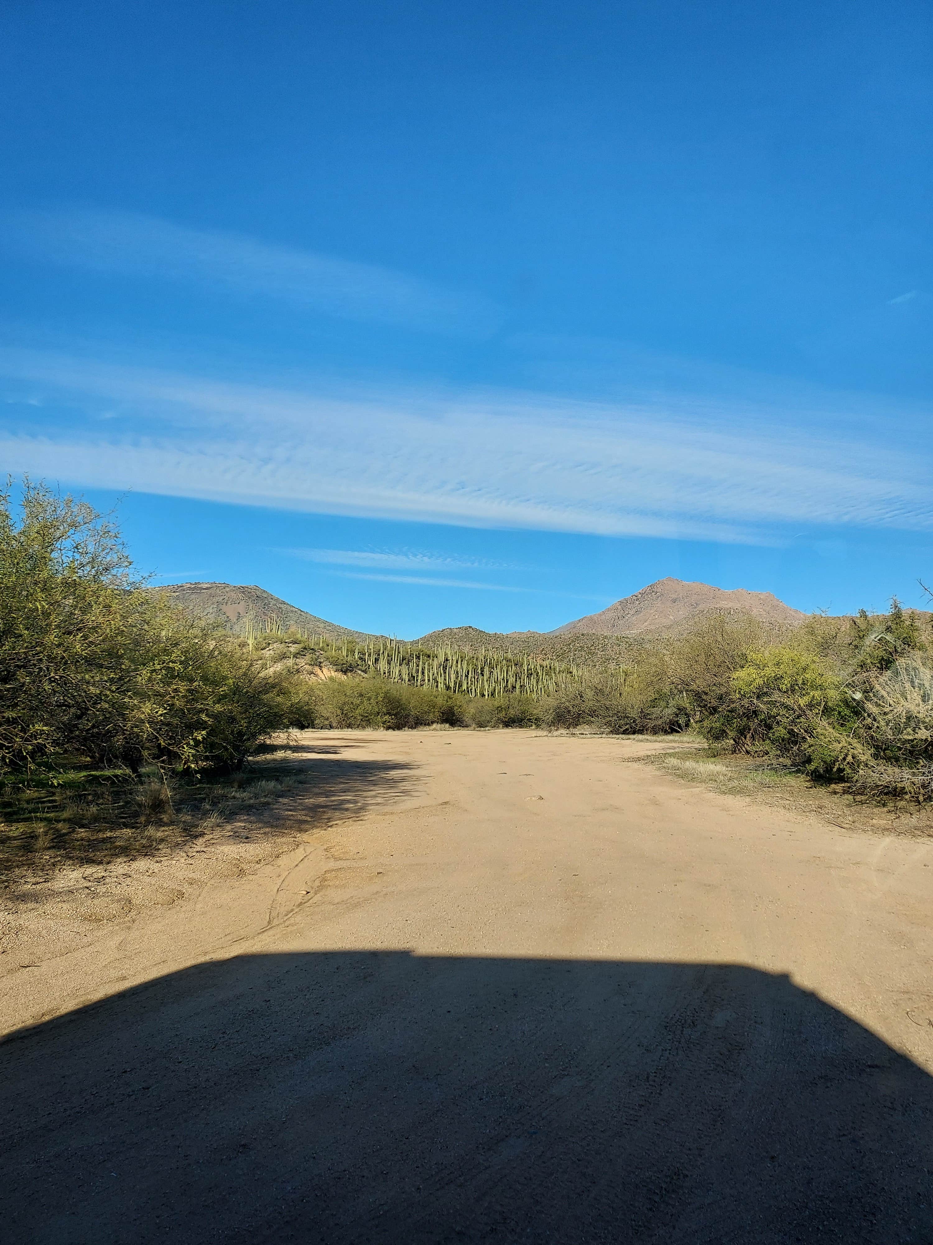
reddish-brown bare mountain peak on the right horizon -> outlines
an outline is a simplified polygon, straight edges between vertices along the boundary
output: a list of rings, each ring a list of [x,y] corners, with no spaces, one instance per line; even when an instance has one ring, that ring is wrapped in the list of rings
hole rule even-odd
[[[632,596],[623,596],[598,614],[565,622],[550,634],[647,635],[675,631],[704,614],[750,614],[763,622],[785,624],[800,622],[805,616],[779,601],[773,593],[749,593],[744,588],[726,591],[668,576]]]

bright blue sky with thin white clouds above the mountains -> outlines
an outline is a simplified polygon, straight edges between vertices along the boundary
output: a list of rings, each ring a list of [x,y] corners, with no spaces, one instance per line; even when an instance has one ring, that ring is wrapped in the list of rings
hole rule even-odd
[[[415,636],[922,604],[927,5],[24,2],[0,466]]]

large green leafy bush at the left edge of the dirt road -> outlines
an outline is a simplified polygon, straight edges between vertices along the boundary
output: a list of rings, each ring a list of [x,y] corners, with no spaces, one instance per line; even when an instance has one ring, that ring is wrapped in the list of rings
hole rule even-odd
[[[17,520],[0,493],[0,774],[62,754],[236,767],[299,715],[287,680],[142,591],[129,566],[85,502],[26,481]]]

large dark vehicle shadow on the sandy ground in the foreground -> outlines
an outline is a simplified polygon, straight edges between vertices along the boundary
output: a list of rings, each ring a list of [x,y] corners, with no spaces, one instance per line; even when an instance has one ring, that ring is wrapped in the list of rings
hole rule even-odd
[[[244,956],[2,1062],[7,1243],[933,1240],[933,1079],[755,969]]]

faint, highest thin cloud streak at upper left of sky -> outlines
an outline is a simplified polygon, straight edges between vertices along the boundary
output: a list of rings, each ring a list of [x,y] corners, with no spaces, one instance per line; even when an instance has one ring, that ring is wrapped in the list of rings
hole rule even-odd
[[[490,300],[407,273],[127,212],[15,213],[2,219],[2,238],[7,250],[70,268],[259,295],[341,319],[480,337],[501,321]]]

